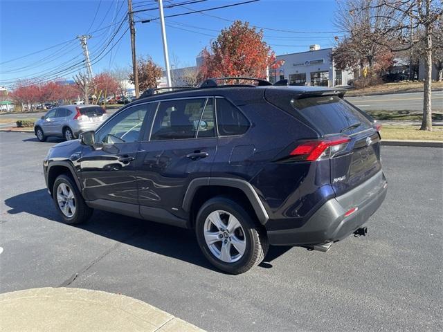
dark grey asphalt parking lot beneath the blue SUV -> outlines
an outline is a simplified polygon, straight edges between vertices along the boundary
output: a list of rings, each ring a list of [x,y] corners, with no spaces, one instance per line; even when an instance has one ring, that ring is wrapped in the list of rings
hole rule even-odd
[[[0,133],[0,293],[122,293],[208,331],[443,330],[443,149],[383,147],[388,196],[368,237],[327,253],[273,247],[232,276],[213,270],[190,231],[98,211],[80,227],[60,223],[41,162],[56,142]]]

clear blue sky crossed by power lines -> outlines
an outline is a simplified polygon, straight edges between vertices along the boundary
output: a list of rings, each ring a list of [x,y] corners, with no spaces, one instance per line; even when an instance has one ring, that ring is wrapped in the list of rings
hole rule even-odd
[[[163,0],[165,16],[247,0],[183,4],[192,1],[196,0]],[[182,6],[167,8],[174,3]],[[133,0],[133,7],[134,11],[151,9],[137,12],[136,21],[159,17],[154,0]],[[310,44],[332,47],[334,36],[343,34],[334,25],[335,9],[336,0],[260,0],[166,17],[170,64],[173,68],[195,66],[200,51],[236,19],[265,28],[264,41],[277,55],[309,50]],[[82,47],[75,39],[78,35],[91,35],[88,47],[94,74],[129,66],[131,44],[126,12],[127,0],[0,0],[0,86],[36,78],[71,79],[84,70]],[[136,54],[149,55],[164,68],[159,20],[136,23]]]

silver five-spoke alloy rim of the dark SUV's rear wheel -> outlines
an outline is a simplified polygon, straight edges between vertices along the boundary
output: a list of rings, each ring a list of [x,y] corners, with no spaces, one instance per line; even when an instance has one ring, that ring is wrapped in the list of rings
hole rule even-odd
[[[211,212],[204,223],[204,238],[210,252],[225,263],[235,263],[246,250],[246,237],[238,219],[229,212]]]

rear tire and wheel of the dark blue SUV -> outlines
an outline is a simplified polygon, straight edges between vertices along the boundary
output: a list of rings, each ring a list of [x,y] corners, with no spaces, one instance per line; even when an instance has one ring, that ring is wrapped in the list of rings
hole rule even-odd
[[[239,275],[264,259],[269,242],[251,214],[225,196],[201,206],[195,223],[197,241],[208,261],[219,270]]]

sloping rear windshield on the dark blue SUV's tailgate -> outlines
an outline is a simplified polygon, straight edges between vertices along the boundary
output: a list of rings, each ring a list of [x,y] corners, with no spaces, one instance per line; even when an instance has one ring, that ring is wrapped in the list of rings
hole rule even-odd
[[[350,134],[372,127],[359,110],[335,95],[292,99],[291,106],[323,135]]]

